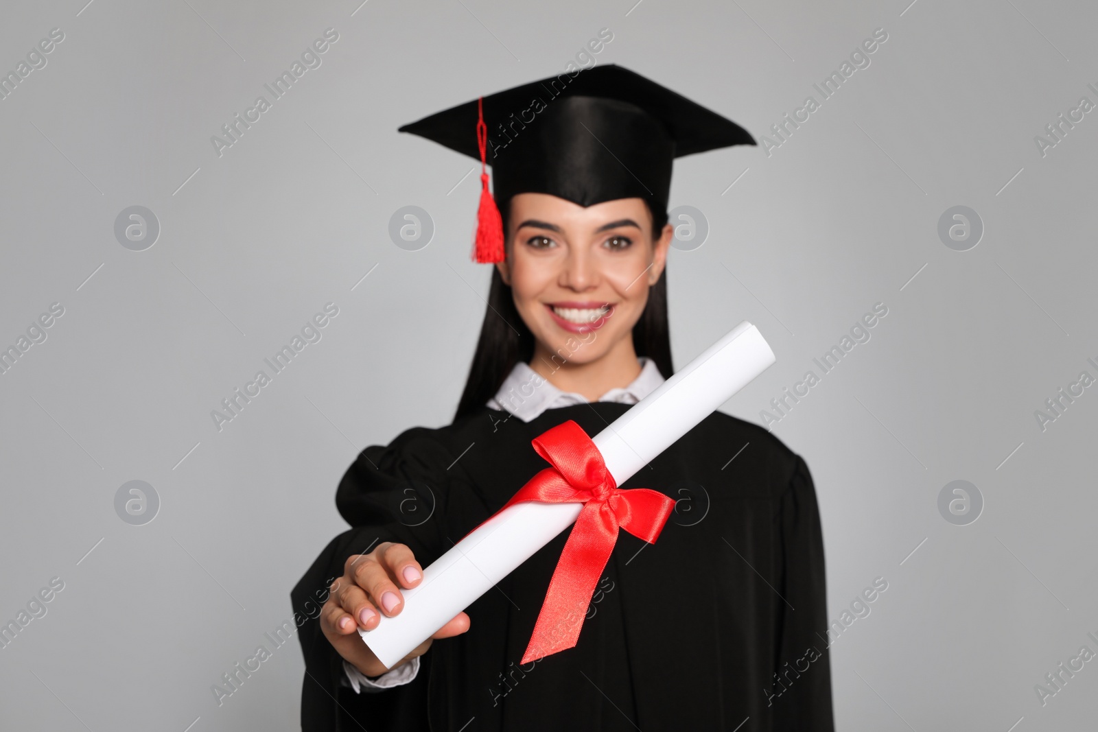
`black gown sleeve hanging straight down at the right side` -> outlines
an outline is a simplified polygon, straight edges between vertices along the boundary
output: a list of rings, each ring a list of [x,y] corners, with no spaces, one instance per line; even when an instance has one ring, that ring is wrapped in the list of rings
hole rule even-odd
[[[827,629],[824,536],[813,478],[799,455],[795,458],[778,510],[784,566],[782,595],[788,606],[780,606],[783,615],[774,673],[784,682],[785,690],[780,701],[774,700],[773,729],[832,732],[830,654],[824,637]],[[776,685],[774,690],[778,688]]]

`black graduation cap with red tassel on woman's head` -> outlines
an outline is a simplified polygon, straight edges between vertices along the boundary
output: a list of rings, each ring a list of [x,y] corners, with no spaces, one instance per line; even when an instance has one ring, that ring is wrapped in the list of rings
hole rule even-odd
[[[400,132],[481,161],[479,262],[504,259],[496,202],[516,193],[548,193],[581,206],[640,198],[652,211],[666,211],[674,158],[755,144],[735,122],[613,64],[458,104]]]

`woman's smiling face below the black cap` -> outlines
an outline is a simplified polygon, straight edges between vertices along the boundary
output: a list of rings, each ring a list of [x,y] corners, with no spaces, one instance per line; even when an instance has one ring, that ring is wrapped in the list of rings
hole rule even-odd
[[[636,358],[632,327],[663,272],[672,227],[653,239],[642,199],[583,207],[519,193],[507,228],[507,259],[496,267],[534,334],[534,360],[585,364],[626,350]]]

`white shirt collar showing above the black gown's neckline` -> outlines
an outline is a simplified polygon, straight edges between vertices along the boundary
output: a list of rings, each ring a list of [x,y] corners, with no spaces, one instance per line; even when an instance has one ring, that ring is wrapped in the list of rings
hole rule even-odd
[[[628,386],[615,387],[598,397],[600,402],[636,404],[656,391],[664,379],[656,361],[641,357],[640,375]],[[586,404],[587,399],[573,392],[562,392],[539,375],[528,363],[516,363],[496,395],[489,399],[489,409],[509,412],[523,421],[530,421],[546,409]]]

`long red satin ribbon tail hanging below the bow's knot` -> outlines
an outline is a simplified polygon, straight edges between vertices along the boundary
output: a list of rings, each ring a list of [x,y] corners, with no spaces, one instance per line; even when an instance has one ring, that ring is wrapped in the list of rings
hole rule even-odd
[[[520,663],[568,650],[579,641],[583,618],[617,541],[616,522],[609,511],[603,513],[604,506],[587,503],[572,527]]]

